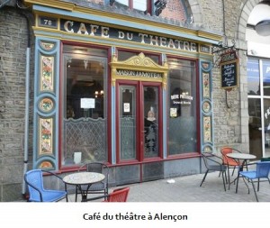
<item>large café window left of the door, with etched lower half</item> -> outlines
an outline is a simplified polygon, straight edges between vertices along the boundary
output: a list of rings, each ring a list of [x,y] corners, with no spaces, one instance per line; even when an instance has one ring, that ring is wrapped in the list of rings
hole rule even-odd
[[[64,45],[62,166],[107,161],[107,51]]]

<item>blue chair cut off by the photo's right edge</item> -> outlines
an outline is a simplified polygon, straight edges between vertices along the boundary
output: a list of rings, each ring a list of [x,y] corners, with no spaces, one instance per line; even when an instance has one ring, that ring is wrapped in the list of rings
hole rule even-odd
[[[256,170],[239,172],[239,177],[246,178],[248,181],[252,183],[252,187],[253,187],[257,202],[258,202],[258,198],[257,198],[257,193],[256,193],[255,185],[254,185],[254,180],[257,179],[257,191],[259,191],[259,184],[260,184],[261,178],[267,178],[270,184],[270,179],[268,177],[269,172],[270,172],[270,161],[258,161]],[[238,185],[237,185],[237,188],[238,188]]]

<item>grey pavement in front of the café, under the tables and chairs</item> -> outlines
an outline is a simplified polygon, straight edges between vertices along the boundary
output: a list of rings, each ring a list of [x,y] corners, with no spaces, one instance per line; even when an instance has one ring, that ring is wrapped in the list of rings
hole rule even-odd
[[[128,202],[257,202],[251,183],[247,183],[250,190],[248,194],[247,186],[242,178],[239,179],[238,193],[236,193],[236,185],[233,183],[230,187],[227,185],[227,191],[224,191],[219,172],[209,173],[200,187],[203,175],[197,174],[127,185],[130,187]],[[233,178],[235,177],[230,179]],[[114,188],[118,187],[112,187],[109,191]],[[260,183],[257,196],[260,202],[270,202],[268,181]],[[74,201],[74,195],[69,195],[68,198],[69,201]]]

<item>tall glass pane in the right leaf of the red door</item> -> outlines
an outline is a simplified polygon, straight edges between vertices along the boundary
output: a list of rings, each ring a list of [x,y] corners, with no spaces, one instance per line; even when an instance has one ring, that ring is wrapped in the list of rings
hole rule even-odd
[[[157,87],[144,87],[144,158],[158,156],[157,92]]]

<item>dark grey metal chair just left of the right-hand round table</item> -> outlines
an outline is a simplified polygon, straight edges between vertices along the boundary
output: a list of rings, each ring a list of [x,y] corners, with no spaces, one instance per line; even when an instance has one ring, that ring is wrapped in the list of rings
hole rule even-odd
[[[202,159],[204,161],[204,165],[207,170],[204,174],[204,177],[202,178],[200,187],[202,187],[202,183],[204,182],[209,171],[219,171],[222,174],[223,186],[224,190],[226,191],[225,180],[227,183],[227,176],[226,176],[227,166],[223,164],[223,160],[219,156],[210,152],[203,152]]]

